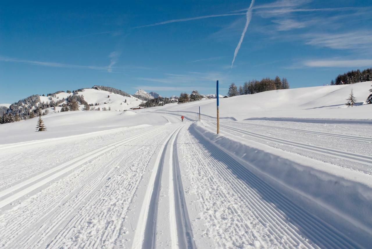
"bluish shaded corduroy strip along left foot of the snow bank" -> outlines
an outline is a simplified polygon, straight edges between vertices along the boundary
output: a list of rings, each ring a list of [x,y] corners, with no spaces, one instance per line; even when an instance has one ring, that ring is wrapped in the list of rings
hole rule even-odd
[[[227,167],[218,164],[215,166],[222,177],[231,184],[232,188],[251,206],[259,210],[255,214],[256,218],[269,225],[273,236],[285,234],[289,237],[288,244],[282,245],[283,248],[293,248],[299,243],[306,248],[363,248],[353,241],[352,238],[339,232],[337,228],[285,197],[285,195],[257,177],[246,166],[240,164],[226,152],[205,139],[197,130],[191,129],[193,135],[199,140],[201,145],[208,149],[211,156],[227,165]],[[267,205],[267,203],[272,203],[273,205]],[[288,217],[289,219],[287,218],[288,220],[285,221],[283,217]],[[288,226],[292,229],[288,229]],[[291,232],[291,230],[296,230],[295,227],[314,244],[295,236]],[[278,240],[280,240],[280,237]]]

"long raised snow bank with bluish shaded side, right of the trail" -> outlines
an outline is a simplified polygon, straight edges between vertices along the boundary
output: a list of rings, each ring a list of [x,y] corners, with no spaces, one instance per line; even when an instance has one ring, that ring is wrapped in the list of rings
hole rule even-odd
[[[341,227],[368,247],[372,243],[372,177],[230,134],[216,135],[203,122],[192,129],[224,150],[296,204]]]

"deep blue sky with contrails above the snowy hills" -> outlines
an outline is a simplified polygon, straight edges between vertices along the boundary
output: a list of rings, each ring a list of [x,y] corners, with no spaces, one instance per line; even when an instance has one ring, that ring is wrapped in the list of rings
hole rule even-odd
[[[0,103],[93,85],[225,93],[276,75],[306,87],[372,67],[370,0],[77,2],[1,1]]]

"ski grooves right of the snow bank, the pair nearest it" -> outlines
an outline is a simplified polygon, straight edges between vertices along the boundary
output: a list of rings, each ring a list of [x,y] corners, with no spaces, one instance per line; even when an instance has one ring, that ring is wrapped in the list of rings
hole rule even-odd
[[[241,129],[237,129],[237,128],[226,126],[226,125],[220,125],[220,126],[228,130],[234,131],[234,132],[243,133],[245,135],[252,136],[254,138],[259,138],[259,139],[267,140],[270,142],[289,145],[289,146],[292,146],[294,148],[298,148],[304,151],[310,151],[312,153],[315,152],[317,154],[331,156],[333,158],[344,159],[346,161],[350,161],[351,163],[343,164],[342,166],[364,171],[369,174],[372,173],[372,156],[361,155],[361,154],[356,154],[356,153],[346,152],[346,151],[340,151],[337,149],[330,149],[330,148],[325,148],[325,147],[316,146],[316,145],[308,145],[305,143],[293,142],[290,140],[285,140],[285,139],[280,139],[280,138],[274,138],[272,136],[266,136],[266,135],[262,135],[259,133],[248,132],[246,130],[241,130]],[[325,160],[323,159],[323,161]],[[330,163],[333,163],[333,162],[330,162]]]

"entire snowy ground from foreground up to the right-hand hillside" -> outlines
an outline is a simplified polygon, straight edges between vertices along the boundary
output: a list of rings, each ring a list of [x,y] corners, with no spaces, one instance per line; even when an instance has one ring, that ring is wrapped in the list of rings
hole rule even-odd
[[[1,125],[0,247],[370,248],[372,105],[332,87],[223,99],[219,135],[216,100]]]

